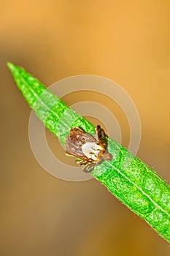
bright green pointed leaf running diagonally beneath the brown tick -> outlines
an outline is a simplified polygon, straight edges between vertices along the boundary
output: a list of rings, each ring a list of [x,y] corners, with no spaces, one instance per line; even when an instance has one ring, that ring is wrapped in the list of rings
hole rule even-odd
[[[14,64],[7,66],[28,105],[63,145],[71,127],[78,126],[94,134],[93,124],[66,106],[39,80]],[[112,160],[96,166],[92,175],[160,236],[170,241],[169,184],[111,138],[108,138],[108,151]]]

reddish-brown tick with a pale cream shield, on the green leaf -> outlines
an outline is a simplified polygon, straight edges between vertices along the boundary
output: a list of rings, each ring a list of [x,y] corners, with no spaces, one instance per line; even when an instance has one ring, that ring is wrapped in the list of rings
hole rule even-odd
[[[95,165],[111,160],[107,152],[107,141],[104,129],[99,125],[95,128],[94,137],[84,132],[80,127],[73,127],[66,138],[66,154],[78,157],[77,164],[85,165],[82,170],[89,173]]]

